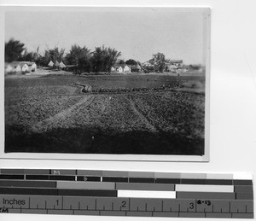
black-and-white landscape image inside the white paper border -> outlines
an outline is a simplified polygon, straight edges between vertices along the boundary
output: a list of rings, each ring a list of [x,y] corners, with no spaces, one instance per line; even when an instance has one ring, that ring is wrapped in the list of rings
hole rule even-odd
[[[4,153],[204,156],[210,9],[4,12]]]

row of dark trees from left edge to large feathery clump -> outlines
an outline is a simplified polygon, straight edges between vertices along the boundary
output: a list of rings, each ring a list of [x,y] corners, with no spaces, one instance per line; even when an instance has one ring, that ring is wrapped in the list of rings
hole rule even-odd
[[[121,52],[116,49],[96,47],[94,51],[74,44],[69,53],[65,49],[45,49],[43,55],[39,54],[39,47],[34,52],[28,52],[25,44],[11,38],[5,43],[5,61],[34,61],[38,66],[47,67],[49,61],[63,61],[66,65],[75,65],[77,72],[108,72],[118,61]]]

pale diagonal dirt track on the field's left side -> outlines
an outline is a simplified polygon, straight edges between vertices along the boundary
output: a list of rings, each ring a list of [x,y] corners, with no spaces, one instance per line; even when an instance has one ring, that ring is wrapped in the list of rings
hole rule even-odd
[[[81,107],[82,105],[88,106],[91,102],[93,102],[95,99],[95,96],[84,96],[82,100],[71,106],[70,108],[67,108],[65,110],[62,110],[60,113],[56,113],[54,116],[49,117],[48,119],[44,119],[43,121],[38,122],[38,124],[32,126],[33,131],[47,131],[49,127],[52,127],[53,125],[58,125],[59,122],[67,119],[69,115],[73,114],[73,111],[77,108]]]

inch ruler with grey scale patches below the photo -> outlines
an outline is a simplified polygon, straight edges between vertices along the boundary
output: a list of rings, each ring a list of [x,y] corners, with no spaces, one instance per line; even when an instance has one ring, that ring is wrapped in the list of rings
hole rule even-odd
[[[253,218],[247,174],[0,170],[0,212]]]

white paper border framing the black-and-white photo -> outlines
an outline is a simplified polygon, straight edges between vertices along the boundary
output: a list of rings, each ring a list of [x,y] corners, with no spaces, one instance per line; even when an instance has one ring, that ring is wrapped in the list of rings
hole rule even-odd
[[[4,69],[4,13],[7,11],[14,11],[14,10],[40,10],[40,11],[49,11],[49,10],[84,10],[84,9],[91,9],[91,8],[123,8],[125,6],[81,6],[81,7],[66,7],[66,6],[0,6],[0,28],[3,32],[0,34],[0,67],[1,70]],[[125,7],[126,8],[126,7]],[[127,8],[136,9],[136,8],[158,8],[158,6],[129,6]],[[150,154],[34,154],[34,153],[5,153],[4,152],[4,123],[0,126],[0,159],[9,159],[9,160],[101,160],[101,161],[185,161],[185,162],[208,162],[210,160],[210,25],[211,25],[211,9],[209,7],[161,7],[161,8],[168,8],[168,9],[182,9],[182,10],[206,10],[207,12],[207,20],[205,22],[206,28],[206,47],[205,49],[207,55],[206,61],[206,94],[205,94],[205,154],[202,156],[199,155],[150,155]],[[1,93],[0,97],[2,101],[4,101],[4,75],[1,75],[0,87]],[[1,122],[4,122],[4,105],[0,110],[1,114]]]

